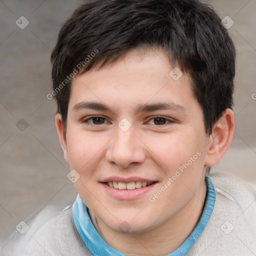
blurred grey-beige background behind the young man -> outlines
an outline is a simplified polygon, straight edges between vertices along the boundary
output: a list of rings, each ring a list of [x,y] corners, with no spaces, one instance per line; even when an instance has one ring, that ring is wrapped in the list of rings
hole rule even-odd
[[[0,240],[28,215],[75,198],[55,130],[55,102],[46,95],[50,51],[81,2],[0,0]],[[208,2],[221,19],[234,21],[228,31],[237,50],[236,128],[217,168],[256,183],[256,0]],[[20,16],[29,21],[24,29],[15,23]]]

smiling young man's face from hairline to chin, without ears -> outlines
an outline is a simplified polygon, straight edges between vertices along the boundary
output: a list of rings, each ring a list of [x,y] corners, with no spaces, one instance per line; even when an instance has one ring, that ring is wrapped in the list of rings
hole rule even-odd
[[[202,111],[189,75],[168,63],[159,48],[135,49],[72,81],[64,156],[83,202],[115,231],[160,226],[204,179]]]

